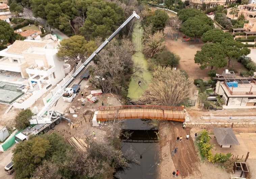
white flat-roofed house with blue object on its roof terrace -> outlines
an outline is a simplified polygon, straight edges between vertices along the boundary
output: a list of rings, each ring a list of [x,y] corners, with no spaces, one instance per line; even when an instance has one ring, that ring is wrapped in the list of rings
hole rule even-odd
[[[223,108],[256,108],[256,77],[236,77],[233,71],[216,74],[215,93],[222,96]]]

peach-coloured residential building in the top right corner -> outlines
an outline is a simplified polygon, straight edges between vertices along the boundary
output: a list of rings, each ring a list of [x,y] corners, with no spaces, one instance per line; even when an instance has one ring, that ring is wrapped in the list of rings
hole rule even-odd
[[[231,14],[232,8],[228,8],[227,17],[230,19],[237,19],[241,14],[245,16],[246,20],[256,19],[256,4],[244,4],[237,6],[238,14]]]

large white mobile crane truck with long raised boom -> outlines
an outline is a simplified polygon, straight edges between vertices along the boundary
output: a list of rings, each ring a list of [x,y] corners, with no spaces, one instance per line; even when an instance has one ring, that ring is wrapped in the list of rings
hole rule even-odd
[[[37,114],[32,117],[29,123],[36,124],[36,127],[28,127],[21,131],[19,134],[17,134],[15,137],[15,141],[17,143],[19,143],[19,141],[27,140],[30,135],[37,135],[42,132],[47,132],[50,128],[53,128],[56,124],[59,124],[61,122],[61,119],[70,122],[70,119],[63,117],[61,113],[57,113],[55,111],[48,111],[54,105],[55,102],[57,103],[60,96],[63,95],[68,86],[73,82],[74,79],[77,78],[80,72],[82,72],[84,68],[97,56],[97,54],[100,53],[100,51],[134,18],[140,18],[135,11],[133,11],[132,15],[116,31],[114,31],[91,56],[88,57],[88,59],[73,73],[73,75],[67,80],[67,82],[53,94],[51,99],[40,112],[37,113],[36,110],[32,111]],[[45,115],[46,113],[47,115]]]

